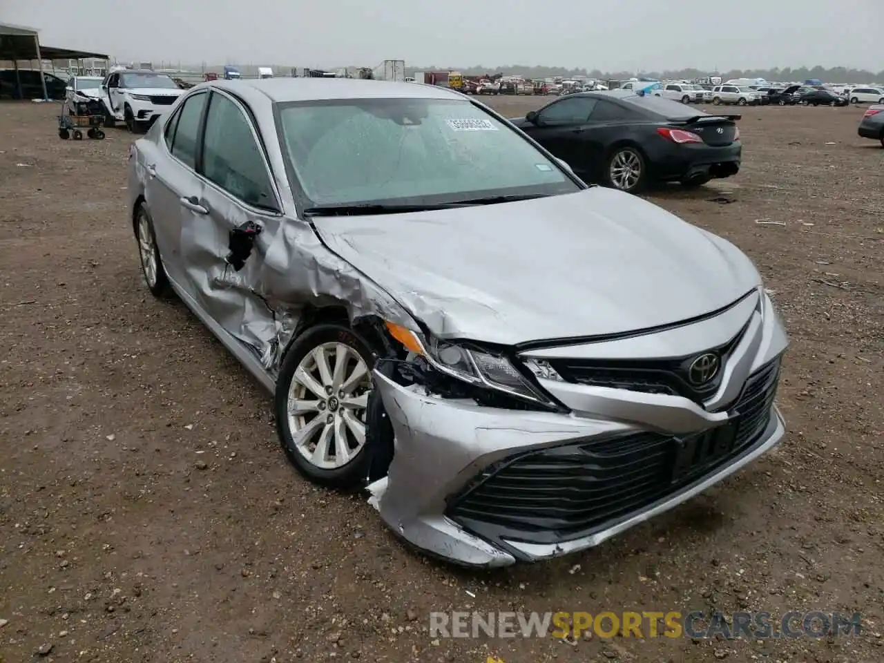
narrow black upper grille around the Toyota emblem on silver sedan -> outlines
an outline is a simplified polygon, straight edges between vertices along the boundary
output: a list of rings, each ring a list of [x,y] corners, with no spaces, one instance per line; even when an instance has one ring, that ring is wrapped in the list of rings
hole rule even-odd
[[[551,359],[548,361],[568,382],[628,389],[631,392],[684,396],[702,404],[718,391],[724,374],[723,367],[737,343],[743,338],[744,331],[746,327],[727,343],[707,351],[718,355],[720,368],[712,380],[700,386],[691,385],[688,379],[690,364],[697,358],[697,354],[665,360]]]

